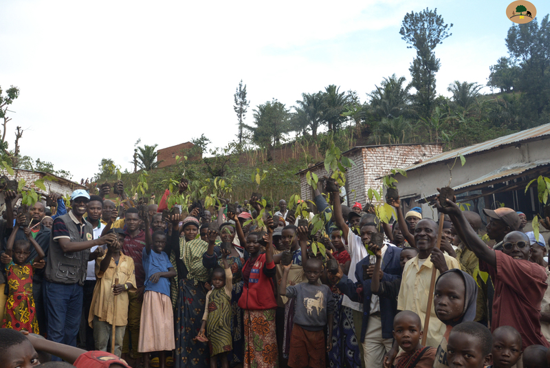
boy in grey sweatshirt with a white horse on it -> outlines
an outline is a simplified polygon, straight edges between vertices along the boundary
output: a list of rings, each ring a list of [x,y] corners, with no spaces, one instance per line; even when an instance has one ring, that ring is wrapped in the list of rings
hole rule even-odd
[[[292,368],[325,368],[325,353],[332,347],[334,301],[329,287],[318,285],[323,270],[322,261],[318,258],[308,259],[304,267],[308,282],[287,287],[291,266],[283,266],[283,279],[279,285],[281,295],[296,299],[288,365]],[[324,331],[327,324],[329,332],[325,344]]]

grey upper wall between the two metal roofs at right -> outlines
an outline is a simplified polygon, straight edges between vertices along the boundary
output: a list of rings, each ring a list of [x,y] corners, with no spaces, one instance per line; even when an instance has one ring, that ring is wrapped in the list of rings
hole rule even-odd
[[[547,160],[550,156],[550,139],[537,140],[534,142],[522,142],[516,146],[503,147],[477,154],[465,156],[466,162],[461,166],[460,159],[457,160],[452,169],[451,186],[456,187],[470,180],[474,180],[487,173],[520,162],[534,162],[536,160]],[[426,197],[437,193],[437,188],[446,186],[449,182],[449,169],[454,159],[447,162],[435,162],[427,164],[418,169],[407,172],[407,177],[397,175],[399,195]],[[414,204],[416,205],[416,204]],[[411,204],[411,206],[413,206]],[[423,213],[428,217],[437,217],[437,211],[429,210],[428,204],[421,205]]]

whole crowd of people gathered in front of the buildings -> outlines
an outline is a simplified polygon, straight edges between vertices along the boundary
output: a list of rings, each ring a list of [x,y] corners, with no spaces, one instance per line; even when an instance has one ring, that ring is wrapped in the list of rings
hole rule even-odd
[[[546,243],[512,208],[483,210],[486,243],[449,199],[436,223],[388,198],[385,224],[320,182],[315,232],[284,199],[166,208],[116,185],[68,208],[4,191],[0,367],[549,367]]]

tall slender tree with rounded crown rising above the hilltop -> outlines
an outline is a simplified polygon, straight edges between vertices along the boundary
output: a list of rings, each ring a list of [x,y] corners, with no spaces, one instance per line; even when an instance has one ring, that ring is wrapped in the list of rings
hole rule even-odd
[[[401,39],[417,50],[417,57],[410,65],[412,87],[417,93],[414,96],[415,105],[419,116],[428,118],[431,116],[435,100],[435,73],[439,71],[439,58],[435,57],[434,48],[443,43],[443,40],[452,33],[448,30],[451,25],[443,22],[443,17],[437,15],[437,8],[432,11],[410,12],[405,15],[401,24]]]

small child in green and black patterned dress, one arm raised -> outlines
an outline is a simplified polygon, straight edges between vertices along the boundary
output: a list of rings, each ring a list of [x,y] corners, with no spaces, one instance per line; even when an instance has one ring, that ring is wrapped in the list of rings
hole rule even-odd
[[[210,368],[216,368],[219,359],[222,368],[228,368],[228,352],[232,351],[231,336],[231,294],[233,290],[233,272],[229,267],[228,255],[231,252],[222,249],[221,260],[223,269],[216,268],[212,272],[212,287],[206,294],[206,307],[202,317],[199,337],[208,335],[210,346]]]

